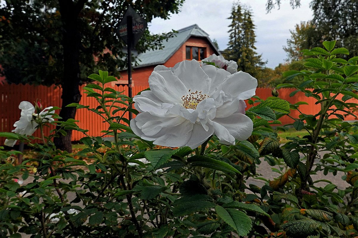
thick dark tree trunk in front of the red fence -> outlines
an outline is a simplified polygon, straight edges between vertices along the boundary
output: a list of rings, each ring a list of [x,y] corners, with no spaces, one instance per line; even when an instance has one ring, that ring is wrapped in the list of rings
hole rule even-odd
[[[85,1],[79,0],[74,4],[72,0],[59,0],[60,13],[62,19],[62,46],[63,46],[63,79],[62,85],[62,109],[59,116],[62,121],[74,119],[76,108],[66,106],[70,103],[79,103],[81,93],[79,92],[80,72],[79,72],[79,48],[81,35],[78,29],[78,15],[81,12]],[[60,134],[54,138],[54,143],[58,149],[72,152],[71,135],[72,130],[66,130],[67,135]]]

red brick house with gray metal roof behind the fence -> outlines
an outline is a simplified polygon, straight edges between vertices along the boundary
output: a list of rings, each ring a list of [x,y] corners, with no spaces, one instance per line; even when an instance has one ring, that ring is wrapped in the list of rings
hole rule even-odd
[[[196,24],[178,30],[178,33],[164,41],[163,45],[164,49],[148,50],[136,56],[138,65],[132,70],[132,86],[149,86],[148,78],[157,65],[173,67],[185,59],[201,61],[212,54],[221,55],[209,35]],[[118,82],[113,82],[117,85],[127,83],[126,70],[121,71]]]

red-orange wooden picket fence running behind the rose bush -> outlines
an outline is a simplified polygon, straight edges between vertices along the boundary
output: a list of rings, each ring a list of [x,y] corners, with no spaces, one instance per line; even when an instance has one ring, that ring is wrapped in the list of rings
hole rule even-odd
[[[83,85],[84,86],[84,85]],[[96,108],[97,103],[94,98],[86,97],[86,94],[83,93],[83,86],[81,87],[81,101],[82,105],[89,105],[91,108]],[[135,86],[133,88],[133,95],[136,95],[139,91],[147,88],[146,86]],[[127,86],[116,86],[114,88],[117,91],[124,91],[123,94],[128,93]],[[319,105],[315,105],[316,100],[314,98],[307,98],[303,93],[297,93],[294,97],[290,97],[289,94],[294,89],[279,89],[279,97],[289,101],[290,103],[296,103],[297,101],[305,101],[309,105],[300,105],[300,110],[305,114],[316,114],[320,110]],[[34,85],[15,85],[15,84],[3,84],[0,82],[0,132],[10,132],[14,129],[13,124],[20,118],[20,110],[18,106],[21,101],[29,101],[33,103],[37,99],[41,99],[44,107],[47,106],[58,106],[61,107],[62,89],[59,86],[34,86]],[[256,90],[256,95],[260,96],[262,99],[266,99],[271,96],[271,89],[268,88],[258,88]],[[337,98],[340,99],[340,98]],[[357,103],[357,99],[350,99],[350,102]],[[250,106],[249,106],[250,107]],[[298,118],[299,112],[297,110],[291,110],[294,118]],[[57,113],[59,113],[57,111]],[[346,120],[356,120],[358,119],[357,111],[353,112],[356,117],[348,115]],[[97,114],[88,111],[87,109],[78,109],[76,113],[76,120],[79,120],[78,126],[83,129],[88,129],[89,135],[92,136],[101,136],[102,130],[108,128],[107,123],[103,123],[103,119]],[[284,116],[281,119],[282,124],[292,123],[292,119],[288,116]],[[45,130],[49,132],[49,128]],[[39,137],[39,130],[34,134]],[[83,134],[77,131],[72,133],[72,140],[76,141],[83,137]],[[5,138],[0,138],[0,145],[3,145]]]

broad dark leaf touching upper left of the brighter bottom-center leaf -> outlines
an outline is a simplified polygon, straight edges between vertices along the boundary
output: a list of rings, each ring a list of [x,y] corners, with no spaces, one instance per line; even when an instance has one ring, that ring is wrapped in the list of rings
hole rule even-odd
[[[173,203],[173,215],[183,217],[208,208],[214,208],[213,199],[207,195],[181,197]]]

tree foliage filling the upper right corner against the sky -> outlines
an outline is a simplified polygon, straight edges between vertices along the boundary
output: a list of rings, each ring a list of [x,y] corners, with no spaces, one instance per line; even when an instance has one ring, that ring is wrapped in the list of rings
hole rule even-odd
[[[296,25],[284,50],[289,60],[302,59],[299,52],[322,45],[323,41],[337,40],[337,47],[347,48],[350,55],[358,55],[358,1],[313,0],[310,3],[313,19]],[[351,56],[343,56],[349,59]]]

